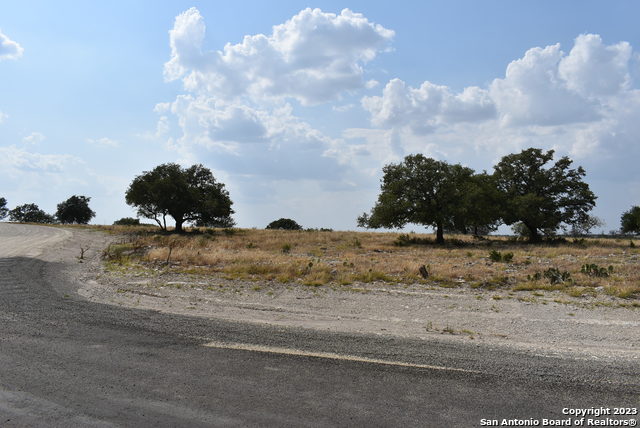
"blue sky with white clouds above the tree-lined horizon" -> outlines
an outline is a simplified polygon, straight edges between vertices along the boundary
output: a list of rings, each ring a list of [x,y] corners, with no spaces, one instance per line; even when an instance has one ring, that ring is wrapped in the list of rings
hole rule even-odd
[[[491,172],[538,147],[585,168],[592,214],[618,229],[640,205],[638,16],[623,0],[2,2],[0,197],[55,212],[85,195],[111,224],[135,216],[135,176],[201,163],[239,227],[354,230],[406,155]]]

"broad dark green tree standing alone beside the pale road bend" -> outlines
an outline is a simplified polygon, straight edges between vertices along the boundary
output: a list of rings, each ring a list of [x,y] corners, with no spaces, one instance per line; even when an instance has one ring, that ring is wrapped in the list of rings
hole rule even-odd
[[[224,184],[216,182],[208,168],[197,164],[182,168],[166,163],[133,179],[126,202],[138,208],[138,216],[154,220],[166,230],[166,216],[175,221],[175,231],[183,224],[229,227],[234,224],[231,199]]]

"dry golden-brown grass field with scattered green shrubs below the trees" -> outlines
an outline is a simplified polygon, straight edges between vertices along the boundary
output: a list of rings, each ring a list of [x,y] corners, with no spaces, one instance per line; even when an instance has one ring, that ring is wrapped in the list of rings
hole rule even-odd
[[[532,245],[459,235],[449,236],[442,247],[422,234],[202,229],[172,235],[144,227],[102,229],[122,235],[104,251],[111,269],[315,287],[418,283],[640,300],[640,242],[629,239],[568,238]]]

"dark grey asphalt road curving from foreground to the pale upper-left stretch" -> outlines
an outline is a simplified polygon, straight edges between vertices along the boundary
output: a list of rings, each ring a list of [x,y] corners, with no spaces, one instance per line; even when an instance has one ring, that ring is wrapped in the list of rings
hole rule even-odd
[[[640,407],[632,360],[328,334],[100,305],[0,224],[0,426],[473,427]],[[636,417],[636,419],[638,419]]]

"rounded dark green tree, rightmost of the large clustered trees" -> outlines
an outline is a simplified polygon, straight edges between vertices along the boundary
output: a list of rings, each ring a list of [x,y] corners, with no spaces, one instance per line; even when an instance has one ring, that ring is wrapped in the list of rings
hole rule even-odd
[[[508,225],[522,222],[534,242],[540,231],[553,233],[562,224],[584,222],[595,206],[596,196],[582,181],[582,167],[571,169],[572,161],[562,157],[545,168],[553,153],[530,148],[503,157],[494,167],[502,220]]]

